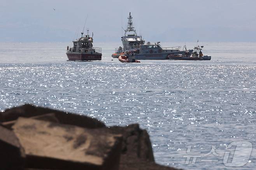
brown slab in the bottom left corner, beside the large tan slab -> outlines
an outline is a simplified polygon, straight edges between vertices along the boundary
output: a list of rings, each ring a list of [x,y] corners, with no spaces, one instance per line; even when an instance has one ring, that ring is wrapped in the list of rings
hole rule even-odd
[[[23,170],[25,154],[11,130],[0,126],[0,169]]]

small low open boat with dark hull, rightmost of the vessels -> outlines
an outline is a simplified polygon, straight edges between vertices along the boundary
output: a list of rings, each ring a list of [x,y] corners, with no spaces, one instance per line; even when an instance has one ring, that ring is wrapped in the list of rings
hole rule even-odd
[[[170,59],[170,60],[210,60],[211,56],[204,56],[202,49],[203,49],[203,46],[195,47],[192,52],[192,55],[169,54],[168,59]]]

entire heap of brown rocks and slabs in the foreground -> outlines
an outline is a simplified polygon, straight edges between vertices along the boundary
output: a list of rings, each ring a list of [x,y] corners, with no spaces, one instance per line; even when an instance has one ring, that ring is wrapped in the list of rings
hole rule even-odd
[[[0,148],[17,160],[15,168],[3,161],[0,169],[175,170],[154,162],[149,135],[138,124],[106,127],[94,118],[29,104],[0,113],[0,124]],[[0,152],[1,162],[5,155]]]

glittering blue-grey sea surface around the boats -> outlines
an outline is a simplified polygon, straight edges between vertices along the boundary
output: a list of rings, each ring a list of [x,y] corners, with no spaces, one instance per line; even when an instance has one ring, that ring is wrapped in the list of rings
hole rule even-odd
[[[223,164],[227,146],[247,141],[255,147],[256,43],[203,43],[211,61],[141,63],[111,61],[118,43],[94,45],[102,47],[102,61],[68,62],[66,45],[0,43],[0,110],[32,103],[108,126],[139,123],[149,132],[156,162],[176,168],[234,169]],[[187,165],[190,146],[201,157]],[[202,156],[212,146],[218,156]],[[237,169],[255,165],[253,148]]]

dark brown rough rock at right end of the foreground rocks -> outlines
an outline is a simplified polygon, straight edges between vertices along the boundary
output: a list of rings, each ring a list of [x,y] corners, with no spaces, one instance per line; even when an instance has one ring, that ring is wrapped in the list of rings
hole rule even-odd
[[[138,124],[110,127],[109,130],[113,134],[123,135],[120,170],[177,170],[154,162],[149,135]]]

